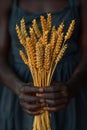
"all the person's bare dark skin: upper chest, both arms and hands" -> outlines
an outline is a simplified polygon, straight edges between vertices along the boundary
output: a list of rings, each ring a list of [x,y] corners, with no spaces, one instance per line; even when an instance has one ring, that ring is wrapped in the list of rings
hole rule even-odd
[[[35,4],[35,2],[38,3],[39,6],[37,6],[38,4]],[[31,115],[41,114],[41,109],[55,112],[65,108],[69,104],[70,100],[75,97],[87,83],[87,19],[85,16],[85,12],[87,11],[85,4],[86,0],[80,1],[80,15],[82,22],[80,36],[80,46],[82,51],[81,61],[74,71],[72,77],[69,81],[67,81],[66,84],[54,83],[49,88],[35,88],[35,86],[31,84],[24,83],[15,74],[14,70],[10,68],[8,63],[8,54],[10,48],[10,36],[8,33],[8,12],[12,6],[12,1],[8,0],[8,5],[5,5],[5,3],[6,2],[4,0],[1,5],[2,11],[0,14],[0,33],[2,33],[2,37],[0,38],[0,81],[2,81],[19,97],[22,109]],[[54,0],[53,2],[49,0],[27,0],[26,2],[24,0],[20,0],[19,2],[19,6],[21,8],[30,12],[56,11],[58,9],[64,8],[67,4],[67,0],[63,0],[62,2],[57,0]],[[38,97],[36,96],[36,93],[38,93]],[[48,104],[48,106],[46,104]]]

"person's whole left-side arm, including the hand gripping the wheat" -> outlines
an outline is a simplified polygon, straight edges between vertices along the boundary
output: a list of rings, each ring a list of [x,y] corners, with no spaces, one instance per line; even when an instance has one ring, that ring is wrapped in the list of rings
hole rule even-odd
[[[40,109],[43,104],[41,104],[40,99],[36,97],[36,93],[40,92],[39,88],[31,87],[30,84],[23,83],[8,64],[10,48],[8,9],[9,7],[3,7],[2,13],[0,14],[0,82],[5,84],[6,87],[18,96],[23,110],[32,115],[40,114]]]

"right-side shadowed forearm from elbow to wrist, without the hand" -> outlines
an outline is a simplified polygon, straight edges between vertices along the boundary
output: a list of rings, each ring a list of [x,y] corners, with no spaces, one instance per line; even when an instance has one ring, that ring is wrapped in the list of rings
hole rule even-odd
[[[80,89],[86,87],[87,84],[87,60],[86,57],[81,60],[80,64],[68,80],[67,85],[78,92]]]

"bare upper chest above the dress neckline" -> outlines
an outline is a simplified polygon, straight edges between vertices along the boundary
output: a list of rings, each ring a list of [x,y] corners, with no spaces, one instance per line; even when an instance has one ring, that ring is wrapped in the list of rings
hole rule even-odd
[[[51,12],[69,6],[69,0],[19,0],[18,5],[28,12]]]

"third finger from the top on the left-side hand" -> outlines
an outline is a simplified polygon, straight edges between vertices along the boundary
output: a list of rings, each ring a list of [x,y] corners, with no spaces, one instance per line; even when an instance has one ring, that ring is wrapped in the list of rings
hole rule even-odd
[[[21,104],[22,108],[24,108],[26,110],[32,110],[32,111],[36,111],[36,110],[44,107],[43,104],[28,104],[25,102],[21,102],[20,104]]]

